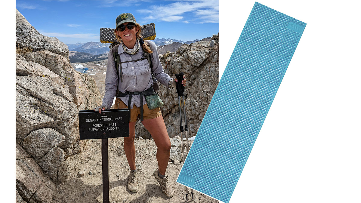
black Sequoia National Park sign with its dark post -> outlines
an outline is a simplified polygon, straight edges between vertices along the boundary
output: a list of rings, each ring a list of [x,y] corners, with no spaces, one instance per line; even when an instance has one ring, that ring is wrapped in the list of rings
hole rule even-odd
[[[128,109],[79,111],[80,139],[101,139],[103,203],[109,203],[108,138],[129,137]]]

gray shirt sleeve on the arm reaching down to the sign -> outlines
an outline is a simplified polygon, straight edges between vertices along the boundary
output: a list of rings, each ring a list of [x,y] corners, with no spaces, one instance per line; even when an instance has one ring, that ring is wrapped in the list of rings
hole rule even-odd
[[[116,96],[117,87],[118,87],[118,74],[115,68],[113,52],[112,50],[110,50],[108,52],[108,64],[106,65],[105,95],[102,104],[102,105],[106,105],[108,109],[112,107],[114,97]]]

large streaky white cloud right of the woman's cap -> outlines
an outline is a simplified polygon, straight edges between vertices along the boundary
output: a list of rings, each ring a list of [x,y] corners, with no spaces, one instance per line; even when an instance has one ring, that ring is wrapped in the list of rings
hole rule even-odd
[[[145,17],[148,21],[158,20],[171,22],[184,18],[188,23],[218,23],[218,5],[218,0],[178,1],[167,5],[153,5],[147,9],[137,11],[149,14]],[[189,12],[195,12],[196,15]],[[210,14],[210,16],[208,16],[208,14]]]

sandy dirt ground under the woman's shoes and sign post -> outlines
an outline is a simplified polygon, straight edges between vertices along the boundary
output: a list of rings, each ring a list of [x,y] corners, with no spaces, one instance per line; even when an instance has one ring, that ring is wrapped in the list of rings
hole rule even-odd
[[[192,143],[192,142],[190,142]],[[123,150],[123,138],[108,139],[109,148],[109,202],[110,203],[143,203],[143,202],[186,202],[184,186],[176,183],[176,178],[182,166],[170,162],[166,174],[175,193],[172,198],[166,198],[153,176],[157,168],[156,144],[153,139],[136,138],[136,167],[139,171],[140,190],[132,193],[126,190],[129,165]],[[101,139],[88,140],[80,155],[80,163],[71,163],[68,180],[58,185],[54,202],[62,203],[102,203],[102,166]],[[80,177],[83,174],[82,177]],[[92,175],[91,175],[92,174]],[[188,189],[188,193],[190,190]],[[194,200],[188,196],[188,202],[209,203],[218,202],[201,193],[194,193]]]

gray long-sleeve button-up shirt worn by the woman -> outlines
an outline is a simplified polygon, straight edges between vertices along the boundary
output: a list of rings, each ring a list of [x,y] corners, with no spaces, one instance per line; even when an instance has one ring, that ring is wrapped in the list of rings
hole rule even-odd
[[[155,43],[148,41],[149,47],[151,47],[153,53],[151,53],[152,58],[152,73],[157,80],[168,87],[169,81],[172,79],[168,74],[164,73],[164,69],[160,60],[158,58],[158,51]],[[135,55],[130,55],[124,52],[122,44],[119,45],[118,54],[122,62],[132,61],[140,59],[143,56],[143,48],[139,47],[139,52]],[[153,86],[153,80],[151,75],[151,68],[147,59],[140,61],[132,61],[122,63],[122,78],[123,82],[120,81],[120,71],[117,75],[117,70],[115,69],[115,61],[113,57],[112,50],[108,53],[108,65],[106,66],[106,75],[105,75],[105,95],[103,99],[103,104],[106,105],[108,109],[112,107],[114,97],[116,96],[116,88],[121,92],[141,92],[147,90],[149,87]],[[119,67],[118,67],[119,68]],[[119,69],[118,69],[119,70]],[[118,80],[119,78],[119,80]],[[140,107],[140,95],[131,95],[133,98],[131,100],[130,108],[133,108],[133,104],[136,107]],[[126,105],[128,105],[129,95],[124,97],[119,97]],[[143,104],[146,103],[143,96]]]

